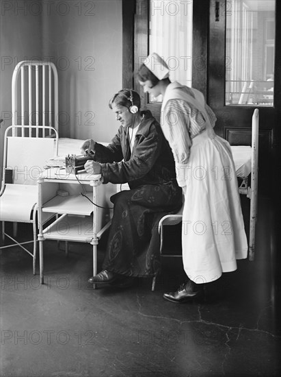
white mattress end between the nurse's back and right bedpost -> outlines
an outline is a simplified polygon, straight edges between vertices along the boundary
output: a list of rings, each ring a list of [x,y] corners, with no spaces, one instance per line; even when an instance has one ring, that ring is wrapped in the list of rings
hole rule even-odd
[[[232,146],[231,150],[237,177],[247,177],[251,173],[252,147],[239,145]]]

